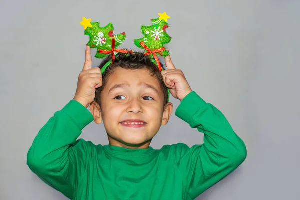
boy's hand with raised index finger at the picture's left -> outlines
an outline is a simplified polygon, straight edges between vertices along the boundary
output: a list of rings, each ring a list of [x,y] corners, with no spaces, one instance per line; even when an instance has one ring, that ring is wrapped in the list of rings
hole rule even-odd
[[[73,100],[78,101],[86,108],[95,98],[96,88],[102,86],[102,73],[99,67],[92,67],[90,47],[85,49],[85,63],[79,74],[77,90]]]

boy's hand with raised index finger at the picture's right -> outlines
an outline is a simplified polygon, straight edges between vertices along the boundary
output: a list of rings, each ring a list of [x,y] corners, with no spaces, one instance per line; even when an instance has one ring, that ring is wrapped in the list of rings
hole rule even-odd
[[[180,101],[190,92],[192,92],[183,72],[176,69],[170,55],[165,57],[166,70],[161,71],[163,82],[174,98]]]

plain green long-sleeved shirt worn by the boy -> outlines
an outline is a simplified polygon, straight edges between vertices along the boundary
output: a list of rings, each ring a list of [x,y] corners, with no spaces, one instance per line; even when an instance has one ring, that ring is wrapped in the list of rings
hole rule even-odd
[[[159,150],[95,145],[77,140],[93,117],[71,100],[41,128],[27,164],[70,199],[194,199],[235,170],[247,151],[224,115],[194,91],[175,114],[204,133],[203,144]]]

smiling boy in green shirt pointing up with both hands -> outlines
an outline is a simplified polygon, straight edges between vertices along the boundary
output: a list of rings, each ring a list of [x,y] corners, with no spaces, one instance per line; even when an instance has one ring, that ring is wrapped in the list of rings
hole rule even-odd
[[[244,161],[243,141],[218,109],[191,90],[170,56],[160,72],[142,53],[118,55],[101,74],[91,68],[86,47],[74,98],[28,151],[28,166],[44,182],[70,199],[194,199]],[[176,116],[203,132],[204,144],[149,146],[172,113],[167,88],[181,101]],[[108,145],[76,141],[92,120],[103,121]]]

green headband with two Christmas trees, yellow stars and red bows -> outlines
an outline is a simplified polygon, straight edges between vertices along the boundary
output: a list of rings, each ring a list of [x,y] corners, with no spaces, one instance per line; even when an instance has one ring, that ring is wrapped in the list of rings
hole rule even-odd
[[[151,26],[141,26],[141,33],[144,35],[143,38],[134,39],[134,44],[141,49],[144,49],[144,55],[149,55],[151,61],[158,67],[159,71],[162,71],[158,56],[166,57],[169,55],[169,51],[164,48],[164,44],[171,41],[171,37],[166,33],[166,28],[169,27],[167,19],[170,18],[165,12],[158,13],[159,18],[151,19]],[[111,60],[109,60],[101,69],[102,74],[111,63],[115,61],[117,53],[133,53],[130,50],[118,49],[125,38],[126,33],[113,34],[113,24],[108,23],[105,27],[100,27],[100,22],[91,22],[91,19],[83,17],[80,22],[83,25],[85,31],[84,35],[89,36],[89,41],[86,44],[90,48],[97,48],[96,58],[104,58],[111,54]],[[169,101],[169,89],[167,101]]]

